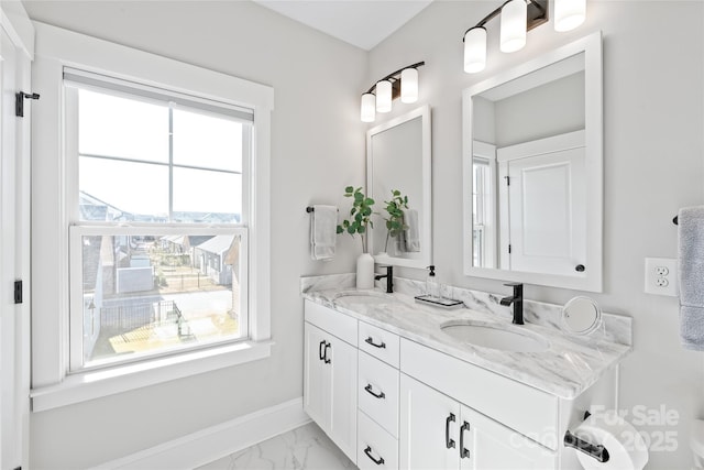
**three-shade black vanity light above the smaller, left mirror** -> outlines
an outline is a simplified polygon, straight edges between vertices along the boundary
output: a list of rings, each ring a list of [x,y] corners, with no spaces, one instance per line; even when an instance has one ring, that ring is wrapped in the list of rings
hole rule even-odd
[[[374,122],[377,112],[392,110],[392,101],[398,97],[403,102],[416,102],[418,100],[418,67],[425,62],[408,65],[388,74],[365,94],[362,95],[360,118],[362,122]]]

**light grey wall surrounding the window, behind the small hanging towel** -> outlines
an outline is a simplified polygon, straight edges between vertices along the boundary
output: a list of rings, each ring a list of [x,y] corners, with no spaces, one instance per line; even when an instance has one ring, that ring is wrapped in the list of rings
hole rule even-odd
[[[369,87],[366,53],[252,2],[29,1],[26,10],[37,21],[275,90],[272,357],[35,413],[32,468],[86,468],[300,396],[298,278],[350,272],[359,253],[358,244],[344,238],[333,262],[311,261],[305,208],[311,203],[343,206],[344,187],[364,184],[365,128],[359,120],[359,96]]]

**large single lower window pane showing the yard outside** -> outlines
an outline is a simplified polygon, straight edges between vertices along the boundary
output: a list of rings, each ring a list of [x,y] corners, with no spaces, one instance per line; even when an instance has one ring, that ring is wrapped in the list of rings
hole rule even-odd
[[[240,236],[82,236],[84,364],[244,337]]]

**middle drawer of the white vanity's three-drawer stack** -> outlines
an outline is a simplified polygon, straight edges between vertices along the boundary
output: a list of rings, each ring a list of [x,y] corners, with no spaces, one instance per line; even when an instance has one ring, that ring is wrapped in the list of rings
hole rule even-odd
[[[397,369],[360,351],[358,404],[394,437],[398,437],[398,375]]]

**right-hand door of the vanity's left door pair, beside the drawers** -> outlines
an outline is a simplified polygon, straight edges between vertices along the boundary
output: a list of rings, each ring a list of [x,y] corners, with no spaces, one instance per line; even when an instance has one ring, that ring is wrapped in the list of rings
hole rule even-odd
[[[356,348],[329,335],[322,363],[330,370],[330,430],[334,444],[356,462]]]

